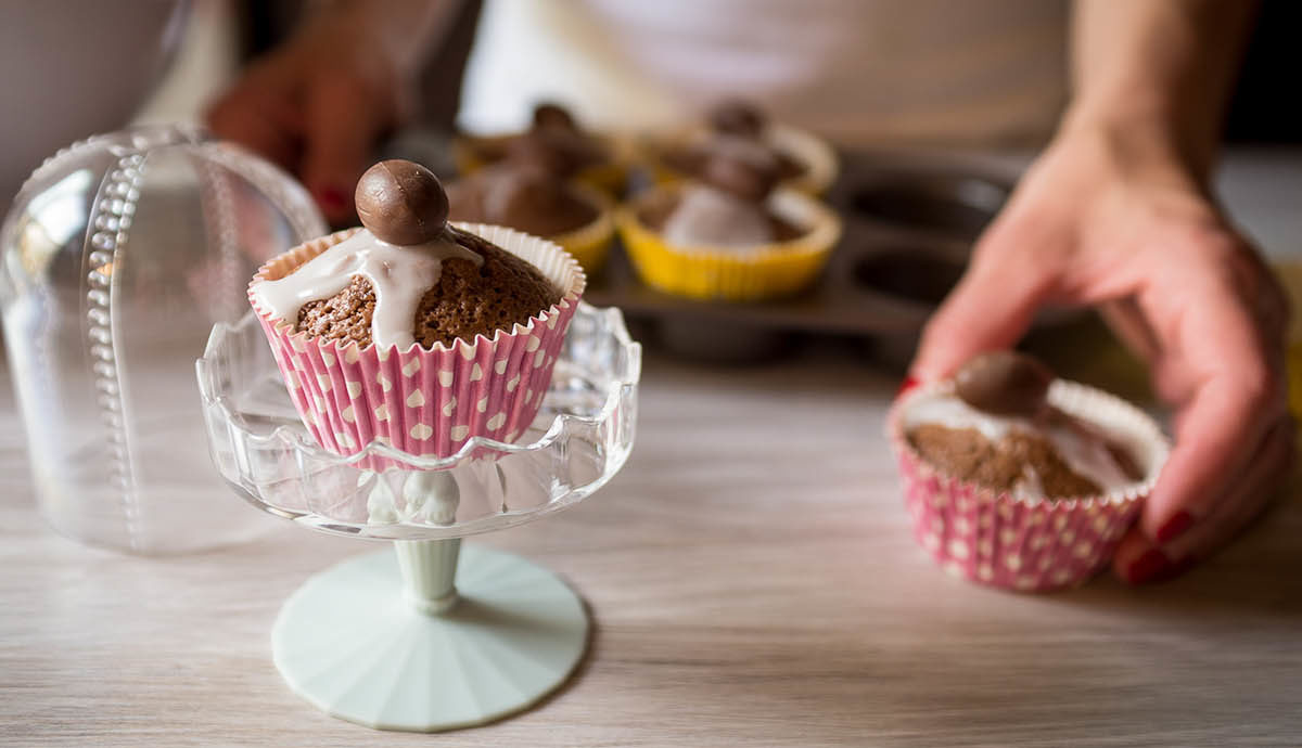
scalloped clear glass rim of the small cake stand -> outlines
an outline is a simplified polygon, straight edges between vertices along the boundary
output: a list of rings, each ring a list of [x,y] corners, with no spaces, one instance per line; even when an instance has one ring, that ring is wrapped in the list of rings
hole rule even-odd
[[[624,366],[624,371],[618,372],[617,379],[609,384],[607,388],[605,402],[602,405],[602,410],[594,416],[582,416],[575,414],[557,414],[552,420],[552,424],[547,428],[543,436],[529,444],[509,444],[497,441],[493,438],[475,436],[466,440],[466,444],[457,450],[456,454],[445,458],[431,458],[419,457],[391,445],[372,441],[359,451],[350,455],[339,455],[332,451],[326,450],[314,440],[306,436],[306,432],[298,432],[289,425],[277,425],[271,432],[266,434],[258,434],[250,431],[247,427],[247,420],[230,406],[230,398],[215,392],[215,385],[212,382],[212,373],[208,371],[210,363],[208,358],[212,355],[211,351],[220,345],[223,337],[232,334],[236,329],[245,327],[259,327],[258,319],[254,312],[249,312],[234,325],[228,325],[219,323],[212,327],[212,333],[208,336],[208,342],[203,349],[203,358],[195,362],[195,369],[199,377],[199,394],[203,398],[206,406],[216,407],[221,411],[224,419],[236,427],[245,438],[251,444],[272,444],[276,441],[288,444],[296,450],[302,450],[307,455],[318,459],[329,466],[355,466],[358,462],[366,459],[367,457],[384,457],[404,464],[404,468],[410,470],[448,470],[457,467],[467,459],[473,459],[473,454],[479,449],[488,449],[492,451],[500,451],[505,454],[519,454],[526,451],[533,451],[536,449],[551,446],[556,438],[565,431],[566,423],[582,423],[582,424],[600,424],[608,420],[618,407],[622,399],[622,390],[628,388],[637,386],[638,376],[641,373],[642,364],[642,346],[633,341],[629,336],[629,330],[624,324],[624,315],[620,310],[615,307],[598,310],[596,307],[579,302],[577,314],[586,314],[589,316],[604,316],[609,323],[611,330],[615,333],[617,342],[621,347],[626,349],[630,355]],[[365,470],[365,468],[358,468]]]

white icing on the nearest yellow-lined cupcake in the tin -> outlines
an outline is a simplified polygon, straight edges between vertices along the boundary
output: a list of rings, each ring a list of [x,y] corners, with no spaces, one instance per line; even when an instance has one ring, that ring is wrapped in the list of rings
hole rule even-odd
[[[661,233],[667,242],[680,246],[753,247],[775,239],[763,203],[706,185],[682,193]]]

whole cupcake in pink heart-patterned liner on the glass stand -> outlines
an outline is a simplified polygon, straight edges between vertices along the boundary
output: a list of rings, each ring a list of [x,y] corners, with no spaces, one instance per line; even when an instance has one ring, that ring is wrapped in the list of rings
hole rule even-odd
[[[512,442],[542,405],[583,291],[556,245],[452,225],[428,169],[383,161],[357,186],[362,229],[273,258],[249,298],[290,395],[326,449],[384,442],[450,457]]]

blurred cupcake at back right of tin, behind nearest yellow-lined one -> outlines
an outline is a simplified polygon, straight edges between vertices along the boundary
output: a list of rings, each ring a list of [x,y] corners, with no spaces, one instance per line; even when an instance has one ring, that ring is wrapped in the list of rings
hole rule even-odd
[[[755,105],[730,100],[715,107],[703,125],[650,146],[658,181],[700,177],[716,154],[764,155],[777,163],[779,181],[822,195],[837,173],[836,152],[820,138],[777,122]]]

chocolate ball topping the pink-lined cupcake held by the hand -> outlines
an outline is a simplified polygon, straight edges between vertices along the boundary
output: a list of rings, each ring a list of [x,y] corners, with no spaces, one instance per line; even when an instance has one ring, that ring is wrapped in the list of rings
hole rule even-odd
[[[993,415],[1035,416],[1053,372],[1039,360],[1016,351],[990,351],[969,360],[954,375],[954,390],[963,402]]]

